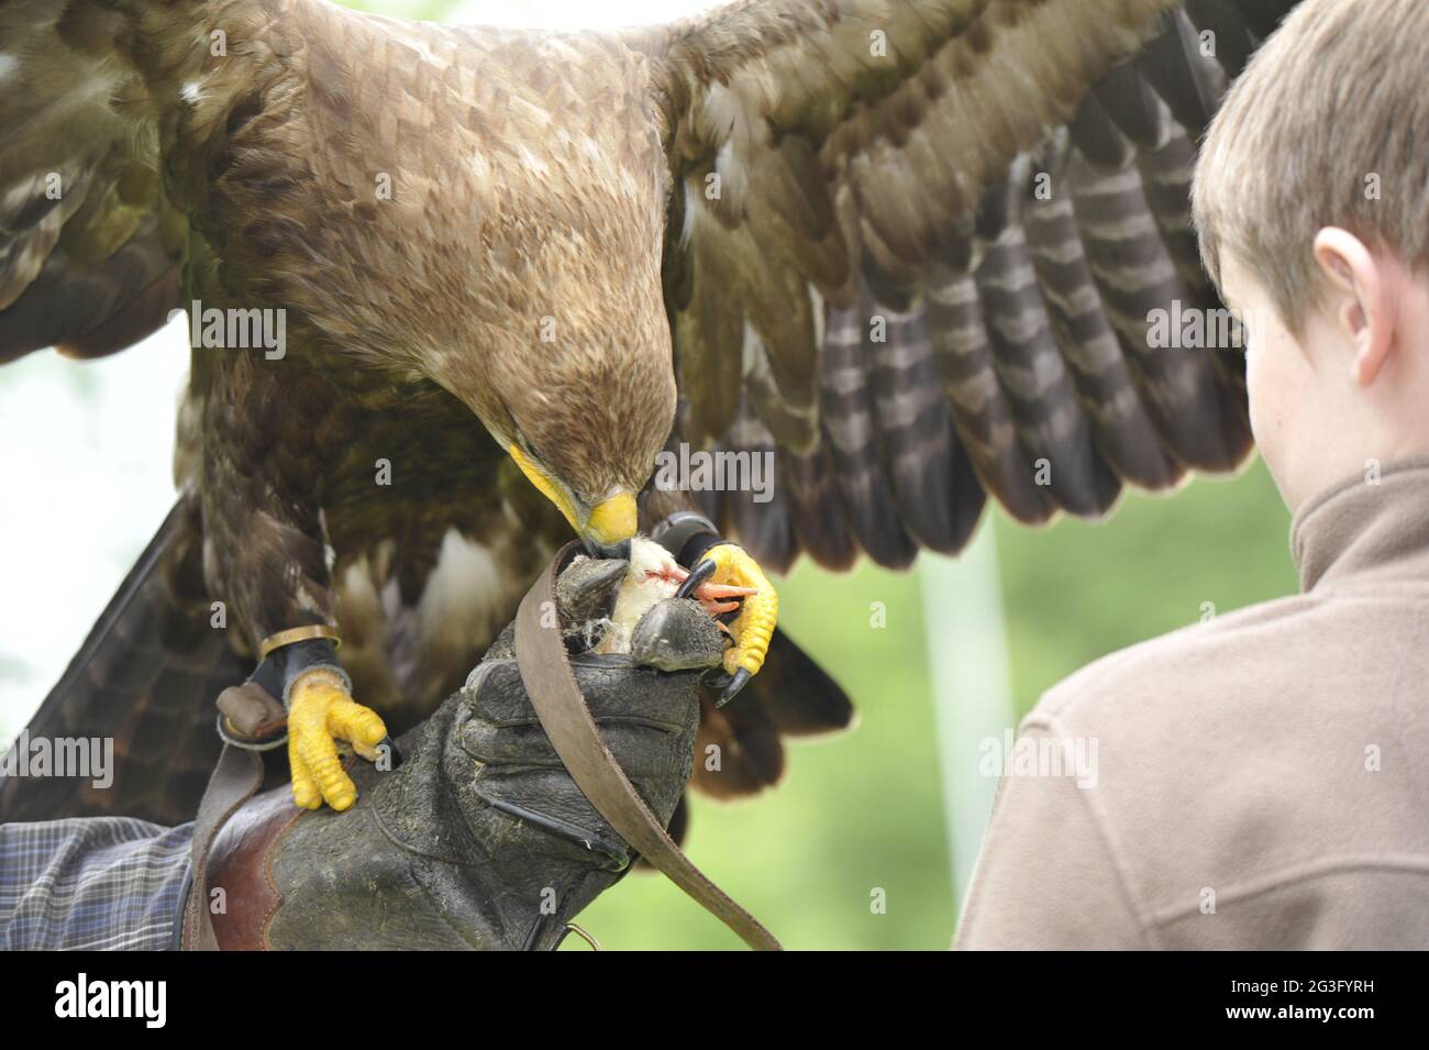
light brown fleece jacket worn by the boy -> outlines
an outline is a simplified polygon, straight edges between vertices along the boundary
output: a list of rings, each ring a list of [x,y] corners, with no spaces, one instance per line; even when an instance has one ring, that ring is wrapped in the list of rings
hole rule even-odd
[[[1290,546],[1300,594],[1042,697],[955,947],[1429,947],[1429,459],[1312,500]]]

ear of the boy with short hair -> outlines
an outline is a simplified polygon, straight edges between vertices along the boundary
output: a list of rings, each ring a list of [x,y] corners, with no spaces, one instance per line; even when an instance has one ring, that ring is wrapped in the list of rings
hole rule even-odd
[[[1335,321],[1355,346],[1350,379],[1369,386],[1395,341],[1383,267],[1365,241],[1336,226],[1326,226],[1315,236],[1315,261],[1333,290]]]

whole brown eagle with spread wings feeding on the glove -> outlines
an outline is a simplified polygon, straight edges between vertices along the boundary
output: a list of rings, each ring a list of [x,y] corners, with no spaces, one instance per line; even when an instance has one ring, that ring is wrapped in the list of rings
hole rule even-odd
[[[747,594],[750,684],[707,699],[726,761],[696,784],[773,783],[780,736],[850,709],[767,630],[767,573],[906,567],[989,496],[1100,517],[1249,454],[1243,363],[1152,327],[1220,309],[1196,140],[1290,7],[740,0],[560,33],[0,4],[0,363],[193,321],[177,503],[31,723],[113,737],[116,784],[11,779],[0,819],[187,819],[213,696],[294,631],[344,673],[293,697],[294,791],[350,804],[304,754],[429,713],[572,536],[620,554],[679,509],[739,540],[716,583]],[[773,484],[656,484],[673,450]]]

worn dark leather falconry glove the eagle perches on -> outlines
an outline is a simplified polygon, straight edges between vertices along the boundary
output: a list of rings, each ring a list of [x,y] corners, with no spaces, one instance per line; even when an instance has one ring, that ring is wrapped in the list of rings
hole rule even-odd
[[[699,677],[723,657],[689,599],[652,607],[629,654],[597,654],[626,561],[580,559],[556,609],[606,746],[662,823],[689,780]],[[209,910],[221,949],[554,949],[634,860],[586,800],[532,707],[509,627],[426,723],[403,763],[349,763],[360,803],[244,804],[216,839]],[[656,669],[663,670],[656,670]]]

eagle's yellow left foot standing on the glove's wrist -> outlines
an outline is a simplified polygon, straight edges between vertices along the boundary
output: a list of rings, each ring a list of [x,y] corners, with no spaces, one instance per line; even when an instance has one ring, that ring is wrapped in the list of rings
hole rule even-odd
[[[334,740],[346,740],[372,761],[387,740],[387,727],[376,711],[353,701],[342,677],[314,667],[293,683],[287,709],[293,801],[304,810],[324,801],[346,810],[357,801],[357,787],[343,771]]]

